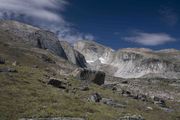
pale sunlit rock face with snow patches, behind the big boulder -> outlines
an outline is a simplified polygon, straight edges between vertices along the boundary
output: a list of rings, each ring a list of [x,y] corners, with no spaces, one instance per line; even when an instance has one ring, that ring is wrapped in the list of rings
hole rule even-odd
[[[114,51],[93,41],[79,41],[74,48],[81,52],[91,69],[122,78],[179,78],[180,52],[126,48]]]

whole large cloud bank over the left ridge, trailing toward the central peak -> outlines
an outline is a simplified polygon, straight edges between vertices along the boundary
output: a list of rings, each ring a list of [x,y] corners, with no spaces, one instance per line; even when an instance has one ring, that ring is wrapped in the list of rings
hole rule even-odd
[[[62,12],[68,4],[67,0],[0,0],[0,19],[18,20],[42,27],[70,42],[87,38],[89,34],[80,33],[64,19]]]

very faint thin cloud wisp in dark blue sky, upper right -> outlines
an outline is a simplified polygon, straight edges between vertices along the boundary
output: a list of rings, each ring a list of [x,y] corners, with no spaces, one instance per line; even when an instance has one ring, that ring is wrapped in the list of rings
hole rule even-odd
[[[176,25],[179,21],[179,15],[173,10],[173,8],[162,6],[158,12],[161,19],[170,26]]]

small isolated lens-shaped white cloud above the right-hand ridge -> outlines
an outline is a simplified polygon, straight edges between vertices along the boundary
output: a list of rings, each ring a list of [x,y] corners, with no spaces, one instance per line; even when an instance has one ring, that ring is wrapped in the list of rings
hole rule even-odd
[[[176,41],[175,38],[171,37],[166,33],[144,33],[144,32],[135,32],[130,37],[124,37],[123,39],[126,41],[135,42],[146,46],[157,46],[157,45],[165,44],[167,42]]]

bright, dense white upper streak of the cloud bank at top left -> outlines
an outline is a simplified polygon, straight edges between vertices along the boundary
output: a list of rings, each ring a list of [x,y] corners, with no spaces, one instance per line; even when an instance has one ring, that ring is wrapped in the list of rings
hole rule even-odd
[[[66,3],[64,0],[0,0],[0,9],[7,17],[25,15],[34,19],[64,22],[62,16],[53,10],[63,10]]]

